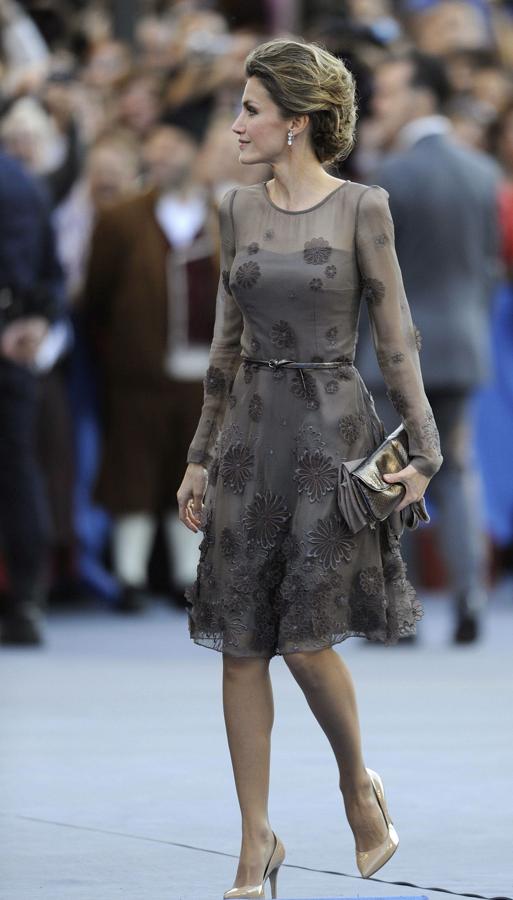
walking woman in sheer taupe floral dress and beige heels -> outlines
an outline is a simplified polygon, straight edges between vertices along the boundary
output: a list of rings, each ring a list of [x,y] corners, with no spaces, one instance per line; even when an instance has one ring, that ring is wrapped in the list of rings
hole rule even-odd
[[[362,759],[351,677],[333,649],[350,635],[392,643],[412,634],[421,615],[388,525],[353,535],[337,509],[337,466],[366,456],[382,436],[352,365],[361,296],[409,436],[411,462],[388,478],[406,485],[398,509],[420,499],[442,461],[388,195],[324,169],[352,146],[351,74],[317,45],[273,40],[250,53],[246,75],[232,126],[240,160],[267,162],[274,178],[232,189],[221,203],[210,365],[177,494],[184,525],[204,531],[197,580],[186,591],[190,634],[223,653],[242,813],[240,861],[225,898],[263,897],[268,877],[276,896],[285,855],[267,813],[269,660],[277,654],[335,753],[362,875],[397,846],[382,782]]]

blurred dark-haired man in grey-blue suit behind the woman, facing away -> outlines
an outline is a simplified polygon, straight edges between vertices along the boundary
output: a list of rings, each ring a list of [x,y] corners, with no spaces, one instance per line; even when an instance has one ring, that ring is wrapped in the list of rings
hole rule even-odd
[[[449,92],[442,63],[432,57],[410,54],[378,68],[374,126],[388,153],[367,180],[390,195],[397,254],[444,455],[430,493],[455,601],[454,640],[466,643],[478,636],[486,602],[486,541],[469,458],[468,413],[474,389],[489,374],[499,173],[484,154],[453,139],[441,114]],[[362,321],[358,365],[392,428],[397,420],[384,396],[366,324]],[[411,554],[411,547],[405,550]]]

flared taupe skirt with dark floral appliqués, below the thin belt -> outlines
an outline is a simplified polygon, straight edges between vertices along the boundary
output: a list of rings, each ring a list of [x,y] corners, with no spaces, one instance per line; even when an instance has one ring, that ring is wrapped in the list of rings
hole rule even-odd
[[[334,374],[336,372],[336,374]],[[342,460],[381,441],[360,373],[244,363],[213,448],[190,637],[272,657],[351,636],[396,643],[422,607],[388,524],[351,534],[337,504]]]

